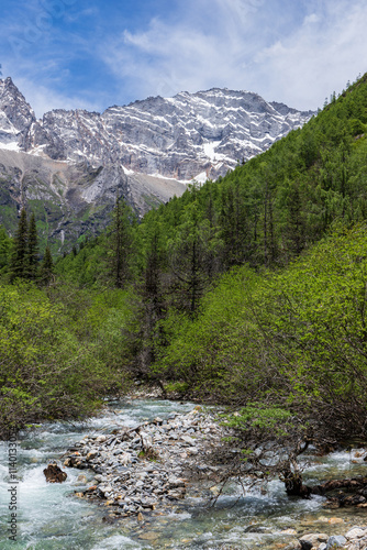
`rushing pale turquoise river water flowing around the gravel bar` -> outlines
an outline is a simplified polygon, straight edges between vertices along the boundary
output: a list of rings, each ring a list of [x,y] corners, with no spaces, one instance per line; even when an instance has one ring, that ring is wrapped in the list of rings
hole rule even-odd
[[[59,460],[74,442],[93,432],[110,432],[121,426],[135,427],[142,420],[171,411],[185,413],[192,404],[167,400],[134,400],[110,404],[102,416],[88,424],[44,424],[21,435],[18,442],[16,481],[9,476],[8,444],[0,446],[0,548],[32,550],[104,550],[104,549],[270,549],[280,548],[298,532],[334,534],[348,525],[363,522],[365,510],[323,509],[323,498],[290,499],[279,482],[271,482],[267,493],[260,488],[246,492],[233,484],[219,498],[215,508],[194,496],[184,505],[173,506],[169,514],[146,517],[142,526],[136,518],[112,521],[107,507],[77,498],[75,492],[93,477],[92,472],[66,469],[67,481],[47,484],[43,474],[49,460]],[[308,479],[351,476],[362,473],[347,452],[327,459],[312,459]],[[80,479],[81,475],[81,479]],[[78,480],[79,477],[79,480]],[[16,486],[16,541],[9,540],[11,512],[9,488]],[[331,518],[332,525],[329,522]],[[343,524],[335,524],[344,521]],[[277,547],[275,544],[278,544]],[[280,546],[279,546],[280,544]]]

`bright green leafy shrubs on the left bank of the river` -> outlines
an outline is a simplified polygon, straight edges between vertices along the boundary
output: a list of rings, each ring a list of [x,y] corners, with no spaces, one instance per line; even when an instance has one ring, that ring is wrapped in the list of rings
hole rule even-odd
[[[81,338],[65,306],[30,285],[0,285],[0,435],[40,419],[82,417],[121,386],[99,340]]]

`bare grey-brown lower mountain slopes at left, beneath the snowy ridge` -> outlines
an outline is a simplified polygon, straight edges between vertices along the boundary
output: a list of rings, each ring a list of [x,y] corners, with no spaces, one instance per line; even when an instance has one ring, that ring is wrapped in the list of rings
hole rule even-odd
[[[116,194],[143,215],[185,189],[170,179],[126,175],[119,164],[93,167],[0,148],[0,223],[14,234],[25,207],[35,213],[41,248],[48,242],[54,253],[104,229]]]

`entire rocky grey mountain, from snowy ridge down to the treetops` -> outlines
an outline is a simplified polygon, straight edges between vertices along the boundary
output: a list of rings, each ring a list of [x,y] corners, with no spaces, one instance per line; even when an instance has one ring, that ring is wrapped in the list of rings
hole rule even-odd
[[[104,227],[116,193],[143,215],[181,195],[185,183],[224,175],[312,114],[214,88],[102,114],[56,109],[36,120],[11,78],[0,80],[0,223],[13,231],[27,205],[62,246]]]

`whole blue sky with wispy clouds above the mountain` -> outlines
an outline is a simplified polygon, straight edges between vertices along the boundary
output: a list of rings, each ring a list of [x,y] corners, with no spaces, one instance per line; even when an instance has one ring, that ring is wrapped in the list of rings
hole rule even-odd
[[[0,64],[37,117],[244,89],[322,107],[367,70],[367,0],[0,0]]]

